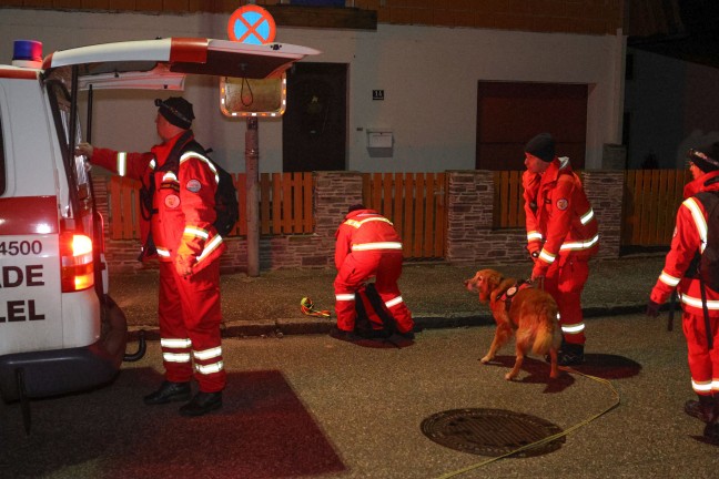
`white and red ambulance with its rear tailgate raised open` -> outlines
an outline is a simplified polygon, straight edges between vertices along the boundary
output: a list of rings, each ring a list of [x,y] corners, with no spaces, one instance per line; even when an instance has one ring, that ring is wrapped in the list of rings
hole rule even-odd
[[[91,124],[94,90],[182,90],[189,74],[279,78],[320,53],[204,38],[95,44],[44,59],[41,49],[16,41],[12,64],[0,65],[0,396],[7,402],[108,384],[125,358],[125,316],[108,295],[103,218],[85,159],[74,154],[90,141],[78,99]]]

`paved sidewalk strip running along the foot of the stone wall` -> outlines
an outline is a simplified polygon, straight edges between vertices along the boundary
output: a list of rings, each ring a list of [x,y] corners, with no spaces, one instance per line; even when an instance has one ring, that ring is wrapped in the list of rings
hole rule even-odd
[[[635,255],[620,259],[593,259],[583,295],[587,318],[642,312],[649,292],[661,272],[662,254]],[[489,324],[489,310],[476,294],[464,287],[475,271],[493,267],[507,276],[526,278],[530,264],[450,266],[444,263],[405,264],[399,287],[413,312],[416,329]],[[334,310],[335,271],[279,269],[222,276],[222,309],[225,337],[322,334],[331,318],[306,316],[300,302],[310,297],[317,309]],[[131,332],[143,329],[156,337],[158,273],[143,271],[111,275],[110,294],[124,310]]]

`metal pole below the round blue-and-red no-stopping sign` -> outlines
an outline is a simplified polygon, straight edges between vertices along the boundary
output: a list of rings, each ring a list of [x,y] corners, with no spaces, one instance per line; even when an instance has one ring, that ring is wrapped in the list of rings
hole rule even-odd
[[[245,172],[247,190],[247,276],[260,276],[260,141],[257,119],[247,116]]]

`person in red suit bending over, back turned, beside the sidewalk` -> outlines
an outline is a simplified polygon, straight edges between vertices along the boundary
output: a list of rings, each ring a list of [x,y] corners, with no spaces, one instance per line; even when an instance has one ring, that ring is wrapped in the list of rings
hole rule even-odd
[[[355,293],[372,277],[387,312],[396,322],[397,333],[414,338],[414,320],[402,299],[397,279],[402,275],[402,240],[389,220],[363,205],[350,207],[335,233],[334,281],[337,325],[332,337],[355,340]]]

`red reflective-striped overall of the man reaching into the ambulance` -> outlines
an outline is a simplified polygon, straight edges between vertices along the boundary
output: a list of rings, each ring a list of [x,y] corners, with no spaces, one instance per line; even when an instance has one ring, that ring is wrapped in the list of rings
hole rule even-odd
[[[155,145],[150,153],[124,153],[94,149],[92,163],[122,176],[150,184],[155,192],[150,225],[143,225],[160,261],[159,323],[165,378],[173,383],[192,379],[203,393],[225,386],[220,338],[220,255],[226,246],[212,225],[215,220],[214,166],[199,153],[180,156],[178,174],[159,171],[182,135]],[[192,140],[190,134],[189,139]],[[174,267],[178,255],[192,257],[193,274],[182,277]],[[155,255],[143,255],[143,257]],[[194,366],[194,367],[193,367]]]

